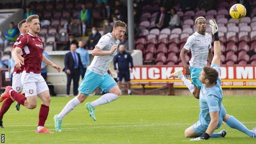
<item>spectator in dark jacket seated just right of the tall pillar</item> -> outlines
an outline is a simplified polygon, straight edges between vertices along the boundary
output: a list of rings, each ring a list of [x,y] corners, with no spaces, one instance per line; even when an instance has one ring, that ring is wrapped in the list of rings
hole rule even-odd
[[[165,27],[168,27],[170,21],[170,15],[165,11],[165,7],[160,7],[160,12],[158,13],[155,19],[156,27],[162,30]]]

